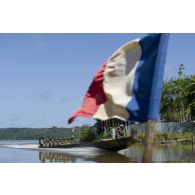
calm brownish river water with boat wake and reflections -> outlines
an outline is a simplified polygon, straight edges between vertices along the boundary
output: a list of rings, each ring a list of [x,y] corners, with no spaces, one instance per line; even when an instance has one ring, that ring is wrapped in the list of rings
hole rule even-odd
[[[37,140],[0,141],[0,163],[139,163],[143,144],[137,143],[118,152],[93,147],[70,149],[39,149]],[[194,163],[192,144],[156,144],[152,161],[155,163]]]

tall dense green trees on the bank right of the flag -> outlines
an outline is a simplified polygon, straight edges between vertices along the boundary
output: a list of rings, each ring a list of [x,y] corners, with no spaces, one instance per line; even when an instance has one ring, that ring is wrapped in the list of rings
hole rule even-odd
[[[189,121],[195,119],[195,75],[184,75],[181,64],[178,77],[164,81],[161,96],[161,120]]]

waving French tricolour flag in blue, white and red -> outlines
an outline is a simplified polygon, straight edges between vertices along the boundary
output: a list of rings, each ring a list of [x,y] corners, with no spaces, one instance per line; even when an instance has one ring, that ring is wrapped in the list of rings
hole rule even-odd
[[[149,34],[119,48],[93,78],[78,116],[145,122],[159,119],[169,34]]]

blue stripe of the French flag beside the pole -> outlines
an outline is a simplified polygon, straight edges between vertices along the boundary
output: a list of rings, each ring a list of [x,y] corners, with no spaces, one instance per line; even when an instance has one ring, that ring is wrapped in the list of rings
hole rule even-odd
[[[135,73],[133,97],[127,105],[130,121],[159,119],[160,98],[169,34],[140,40],[142,55]]]

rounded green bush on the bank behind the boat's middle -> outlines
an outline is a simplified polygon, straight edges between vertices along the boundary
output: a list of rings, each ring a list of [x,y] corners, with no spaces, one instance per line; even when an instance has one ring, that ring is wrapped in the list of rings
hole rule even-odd
[[[95,139],[95,133],[92,127],[83,125],[78,130],[80,141],[92,141]]]

